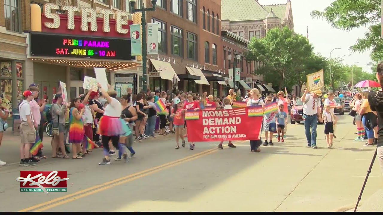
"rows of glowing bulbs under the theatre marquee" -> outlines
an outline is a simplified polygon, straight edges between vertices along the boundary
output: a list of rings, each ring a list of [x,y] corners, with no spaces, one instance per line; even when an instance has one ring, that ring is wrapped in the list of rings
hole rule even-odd
[[[115,62],[115,61],[97,61],[97,60],[61,60],[61,59],[32,59],[34,61],[46,62],[51,64],[64,64],[74,67],[102,67],[108,70],[117,71],[123,70],[127,68],[133,68],[141,64],[137,64],[134,62]]]

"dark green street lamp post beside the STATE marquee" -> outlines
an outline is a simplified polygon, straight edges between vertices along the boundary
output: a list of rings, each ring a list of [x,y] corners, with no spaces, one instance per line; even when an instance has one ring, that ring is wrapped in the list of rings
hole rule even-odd
[[[152,8],[145,8],[144,3],[142,3],[142,8],[134,9],[136,5],[136,0],[129,0],[130,7],[132,12],[142,12],[141,14],[141,27],[142,27],[142,90],[146,91],[147,89],[147,52],[146,52],[146,11],[155,11],[155,3],[157,0],[152,0]]]

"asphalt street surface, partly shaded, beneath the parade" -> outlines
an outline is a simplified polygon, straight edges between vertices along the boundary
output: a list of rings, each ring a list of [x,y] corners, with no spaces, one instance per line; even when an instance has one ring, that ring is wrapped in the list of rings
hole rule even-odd
[[[101,149],[81,160],[42,160],[21,167],[18,137],[6,135],[0,158],[0,211],[332,211],[356,202],[375,147],[352,142],[355,126],[340,116],[333,148],[318,125],[318,149],[307,148],[303,124],[288,125],[285,143],[251,153],[247,141],[175,149],[172,136],[135,143],[128,163],[98,165]],[[50,142],[49,138],[44,139]],[[50,144],[44,153],[50,155]],[[66,170],[67,192],[20,192],[20,170]],[[363,199],[381,184],[373,167]],[[22,200],[25,199],[25,200]]]

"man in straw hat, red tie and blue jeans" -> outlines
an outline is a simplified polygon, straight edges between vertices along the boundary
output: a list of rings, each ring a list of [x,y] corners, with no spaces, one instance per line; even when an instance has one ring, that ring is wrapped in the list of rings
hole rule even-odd
[[[319,96],[322,96],[321,90],[315,90],[309,94],[309,89],[306,89],[301,97],[303,102],[303,120],[304,132],[306,133],[307,147],[318,148],[316,146],[316,126],[321,117],[321,101]],[[311,128],[311,131],[310,131]]]

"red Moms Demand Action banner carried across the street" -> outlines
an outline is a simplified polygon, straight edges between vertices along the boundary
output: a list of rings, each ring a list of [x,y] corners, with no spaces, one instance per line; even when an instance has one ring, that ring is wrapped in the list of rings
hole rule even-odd
[[[186,112],[185,119],[188,141],[208,142],[259,140],[263,116],[254,114],[253,108],[236,108]]]

